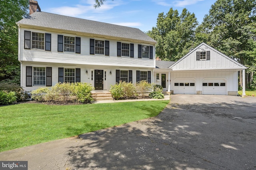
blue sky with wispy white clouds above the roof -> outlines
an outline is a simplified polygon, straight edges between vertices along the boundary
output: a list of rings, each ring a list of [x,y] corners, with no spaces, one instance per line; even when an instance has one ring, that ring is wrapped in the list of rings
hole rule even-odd
[[[186,8],[200,23],[216,0],[107,0],[95,9],[94,0],[37,0],[43,12],[135,27],[141,31],[156,27],[158,14],[170,8],[181,14]]]

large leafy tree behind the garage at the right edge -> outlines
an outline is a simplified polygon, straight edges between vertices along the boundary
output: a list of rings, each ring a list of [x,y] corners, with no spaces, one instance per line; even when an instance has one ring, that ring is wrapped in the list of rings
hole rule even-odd
[[[204,41],[251,68],[256,57],[252,53],[256,41],[256,0],[217,0],[197,27],[196,41]],[[252,68],[250,72],[255,71]]]

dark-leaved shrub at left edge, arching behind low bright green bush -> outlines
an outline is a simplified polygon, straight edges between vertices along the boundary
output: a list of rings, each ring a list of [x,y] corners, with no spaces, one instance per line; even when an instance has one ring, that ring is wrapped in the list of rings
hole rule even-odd
[[[22,87],[11,80],[3,80],[0,82],[0,90],[4,90],[6,92],[15,92],[18,101],[24,100],[24,90]]]

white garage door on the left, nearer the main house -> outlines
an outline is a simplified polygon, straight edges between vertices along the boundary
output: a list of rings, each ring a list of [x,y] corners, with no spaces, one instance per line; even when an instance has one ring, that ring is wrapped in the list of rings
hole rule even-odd
[[[192,79],[174,81],[174,94],[196,94],[196,82]]]

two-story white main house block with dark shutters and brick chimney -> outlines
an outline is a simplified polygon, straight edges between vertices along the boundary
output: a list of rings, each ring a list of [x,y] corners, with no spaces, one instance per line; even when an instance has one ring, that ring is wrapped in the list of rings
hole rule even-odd
[[[156,41],[137,28],[41,12],[18,21],[21,86],[86,82],[110,90],[116,82],[152,82]],[[36,10],[39,11],[36,11]]]

